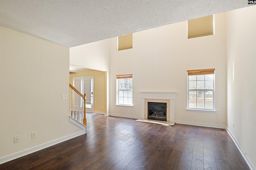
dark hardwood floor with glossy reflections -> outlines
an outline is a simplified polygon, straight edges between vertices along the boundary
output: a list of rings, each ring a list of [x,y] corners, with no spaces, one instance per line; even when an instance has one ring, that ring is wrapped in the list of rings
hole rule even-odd
[[[1,164],[0,169],[250,170],[226,130],[91,113],[86,118],[87,134]]]

